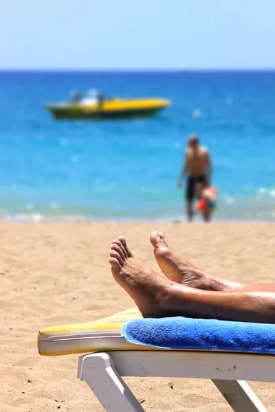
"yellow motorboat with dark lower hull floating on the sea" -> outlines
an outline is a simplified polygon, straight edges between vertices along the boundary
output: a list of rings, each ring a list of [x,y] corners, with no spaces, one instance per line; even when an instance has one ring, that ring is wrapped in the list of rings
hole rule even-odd
[[[46,104],[55,119],[104,119],[135,116],[151,116],[169,106],[164,99],[120,100],[111,98],[102,102],[69,102]]]

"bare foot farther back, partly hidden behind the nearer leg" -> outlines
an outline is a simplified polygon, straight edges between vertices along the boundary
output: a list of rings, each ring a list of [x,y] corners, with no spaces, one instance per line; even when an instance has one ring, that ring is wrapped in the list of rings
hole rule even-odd
[[[229,282],[222,282],[201,271],[197,266],[181,258],[168,248],[161,232],[153,231],[150,237],[159,268],[173,282],[202,290],[229,290]]]

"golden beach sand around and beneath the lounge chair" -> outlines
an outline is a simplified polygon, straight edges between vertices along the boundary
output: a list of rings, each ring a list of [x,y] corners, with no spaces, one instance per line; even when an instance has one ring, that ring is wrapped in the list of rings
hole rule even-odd
[[[135,255],[157,270],[148,242],[154,229],[164,232],[175,251],[213,275],[275,282],[271,223],[1,223],[1,412],[103,411],[85,382],[76,379],[78,356],[39,356],[37,332],[133,306],[111,277],[109,245],[123,234]],[[210,380],[126,380],[146,411],[231,411]],[[275,411],[275,385],[251,386],[265,407]]]

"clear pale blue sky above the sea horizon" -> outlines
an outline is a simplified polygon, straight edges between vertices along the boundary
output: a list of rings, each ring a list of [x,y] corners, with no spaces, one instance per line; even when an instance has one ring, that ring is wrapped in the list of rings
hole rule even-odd
[[[1,69],[275,68],[275,0],[8,0]]]

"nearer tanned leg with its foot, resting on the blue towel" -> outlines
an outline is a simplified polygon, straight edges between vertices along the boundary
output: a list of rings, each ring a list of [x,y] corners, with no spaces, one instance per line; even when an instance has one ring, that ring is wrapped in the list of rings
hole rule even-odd
[[[109,262],[116,282],[135,301],[143,317],[184,315],[275,323],[275,293],[213,292],[177,284],[134,258],[122,236],[113,241]]]

